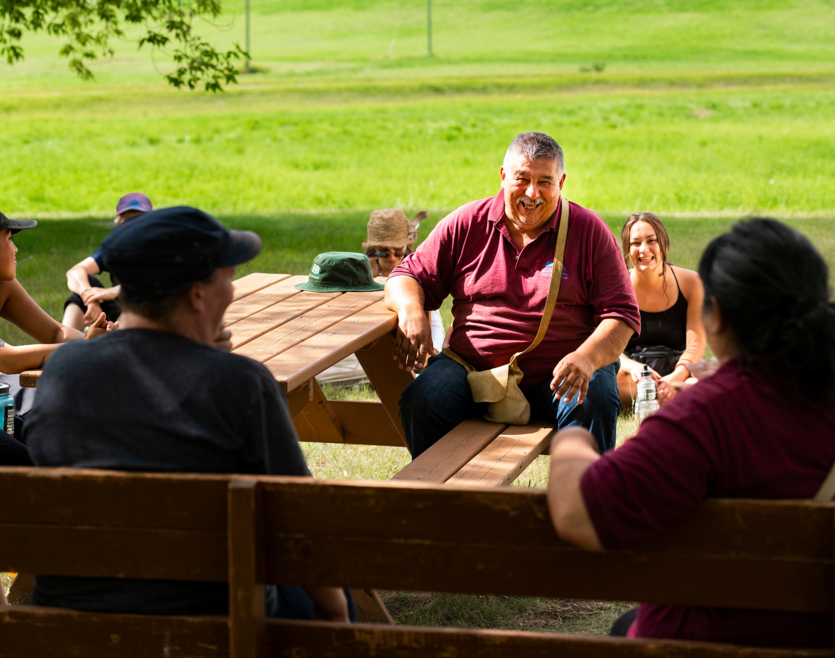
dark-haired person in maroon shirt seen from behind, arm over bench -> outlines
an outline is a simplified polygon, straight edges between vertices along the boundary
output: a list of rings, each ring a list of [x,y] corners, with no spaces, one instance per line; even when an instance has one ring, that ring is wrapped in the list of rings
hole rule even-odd
[[[548,499],[564,540],[629,550],[708,497],[812,498],[835,463],[835,304],[821,255],[785,224],[752,219],[708,245],[699,276],[721,367],[609,455],[584,429],[557,434]],[[832,647],[832,615],[641,604],[612,634]]]

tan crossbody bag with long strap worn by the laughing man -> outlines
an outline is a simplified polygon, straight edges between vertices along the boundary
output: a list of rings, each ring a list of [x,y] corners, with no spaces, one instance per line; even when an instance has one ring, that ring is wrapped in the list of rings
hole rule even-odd
[[[489,423],[504,423],[510,425],[526,425],[530,420],[530,404],[525,398],[522,390],[519,389],[519,382],[522,381],[524,373],[519,368],[519,357],[522,354],[536,349],[542,342],[551,315],[554,314],[554,305],[557,303],[559,294],[559,282],[563,278],[563,254],[565,253],[565,237],[569,230],[569,201],[563,198],[563,208],[559,215],[559,230],[557,231],[557,247],[554,249],[554,269],[551,272],[551,283],[548,288],[548,299],[545,300],[545,312],[539,322],[539,330],[536,332],[534,342],[521,352],[510,357],[510,363],[500,365],[498,368],[481,370],[480,372],[468,364],[458,354],[455,354],[448,347],[443,349],[450,359],[463,366],[467,370],[467,383],[473,391],[473,400],[486,402],[487,414],[484,419]]]

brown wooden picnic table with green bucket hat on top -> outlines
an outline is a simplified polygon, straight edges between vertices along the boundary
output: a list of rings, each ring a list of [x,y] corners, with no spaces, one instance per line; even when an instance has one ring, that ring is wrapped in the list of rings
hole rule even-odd
[[[237,279],[224,324],[232,351],[263,363],[287,396],[302,441],[406,446],[397,403],[414,375],[392,359],[397,315],[381,291],[313,293],[295,288],[306,276],[249,274]],[[381,402],[328,400],[316,375],[349,354]],[[20,384],[38,385],[39,370]]]

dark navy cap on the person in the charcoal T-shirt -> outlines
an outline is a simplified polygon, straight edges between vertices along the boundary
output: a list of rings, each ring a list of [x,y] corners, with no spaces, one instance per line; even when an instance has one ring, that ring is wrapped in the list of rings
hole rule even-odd
[[[130,301],[153,299],[254,259],[261,238],[230,231],[197,208],[154,210],[141,223],[124,224],[101,246],[102,260]]]

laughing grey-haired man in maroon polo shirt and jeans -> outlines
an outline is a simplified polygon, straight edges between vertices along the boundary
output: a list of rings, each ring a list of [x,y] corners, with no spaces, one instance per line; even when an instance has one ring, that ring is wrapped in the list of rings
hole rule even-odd
[[[389,275],[386,304],[398,316],[394,358],[428,366],[400,399],[403,429],[420,455],[464,419],[486,413],[467,373],[435,354],[426,311],[453,296],[449,346],[477,370],[507,364],[539,329],[554,274],[565,181],[562,148],[522,133],[504,156],[501,191],[444,218]],[[595,213],[571,203],[559,297],[542,343],[519,359],[519,384],[534,417],[560,429],[582,425],[600,450],[615,447],[620,414],[617,360],[640,313],[615,236]],[[430,359],[429,357],[432,356]]]

